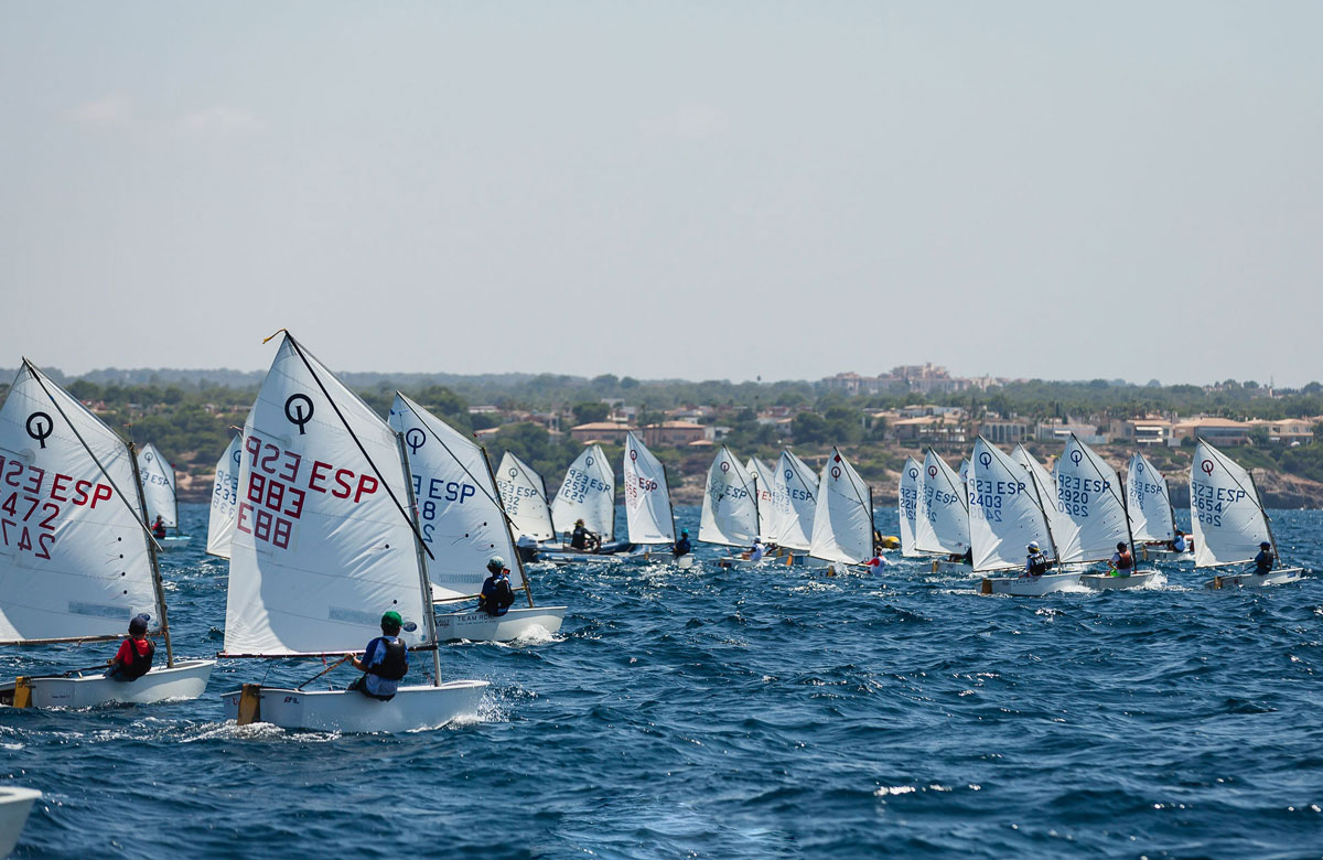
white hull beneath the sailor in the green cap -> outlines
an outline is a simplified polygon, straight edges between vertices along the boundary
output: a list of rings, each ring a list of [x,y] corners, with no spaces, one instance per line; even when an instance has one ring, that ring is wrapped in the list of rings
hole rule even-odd
[[[390,701],[364,696],[356,689],[302,691],[262,687],[259,722],[282,729],[311,732],[413,732],[437,729],[455,720],[476,720],[487,681],[448,681],[441,687],[401,687]],[[221,699],[225,718],[239,712],[242,691]]]

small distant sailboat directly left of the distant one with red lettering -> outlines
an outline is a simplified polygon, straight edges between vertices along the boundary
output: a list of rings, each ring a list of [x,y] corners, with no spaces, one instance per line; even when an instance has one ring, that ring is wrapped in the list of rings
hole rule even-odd
[[[574,531],[578,520],[583,520],[583,528],[597,536],[595,545],[587,549],[565,544],[566,535]],[[552,521],[562,542],[560,546],[538,546],[538,561],[557,565],[617,562],[634,549],[630,541],[615,540],[615,474],[601,445],[585,447],[565,470],[565,480],[552,499]]]

